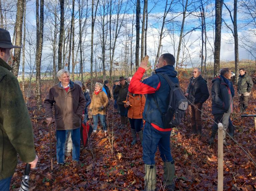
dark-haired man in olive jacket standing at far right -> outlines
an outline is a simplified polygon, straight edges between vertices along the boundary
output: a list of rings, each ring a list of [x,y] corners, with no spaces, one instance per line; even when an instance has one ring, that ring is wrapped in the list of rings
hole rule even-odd
[[[240,96],[240,110],[241,112],[244,112],[248,107],[248,101],[252,91],[253,81],[251,76],[246,73],[244,68],[239,69],[239,74],[237,91],[238,96]]]

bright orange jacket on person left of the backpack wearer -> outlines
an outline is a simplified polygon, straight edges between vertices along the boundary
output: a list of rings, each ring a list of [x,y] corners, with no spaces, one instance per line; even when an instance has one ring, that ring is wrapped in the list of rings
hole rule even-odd
[[[142,94],[131,94],[128,92],[126,102],[129,101],[128,117],[130,119],[142,119],[146,98]]]

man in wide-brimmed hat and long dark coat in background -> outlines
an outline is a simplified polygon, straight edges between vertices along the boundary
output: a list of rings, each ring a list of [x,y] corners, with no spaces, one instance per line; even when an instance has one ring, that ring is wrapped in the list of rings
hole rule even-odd
[[[121,116],[121,125],[119,126],[120,128],[123,128],[124,125],[127,125],[128,123],[128,109],[124,107],[123,101],[126,100],[129,84],[125,80],[126,79],[123,76],[119,77],[118,84],[115,86],[114,89],[114,94],[118,94],[117,104],[119,106]]]

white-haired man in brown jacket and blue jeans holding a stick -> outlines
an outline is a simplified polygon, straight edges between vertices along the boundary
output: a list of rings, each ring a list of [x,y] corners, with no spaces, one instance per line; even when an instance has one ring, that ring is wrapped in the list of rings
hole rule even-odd
[[[67,70],[59,70],[57,77],[59,83],[50,89],[44,100],[46,121],[48,125],[51,124],[52,106],[55,103],[57,161],[59,166],[64,165],[64,145],[70,132],[73,143],[72,160],[76,166],[80,156],[80,127],[84,118],[85,99],[81,87],[70,80]]]

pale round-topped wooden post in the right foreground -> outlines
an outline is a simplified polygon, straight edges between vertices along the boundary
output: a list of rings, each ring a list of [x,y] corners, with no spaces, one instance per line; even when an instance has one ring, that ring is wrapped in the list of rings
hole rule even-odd
[[[223,125],[218,124],[218,191],[223,191]]]

